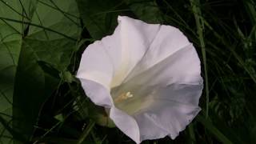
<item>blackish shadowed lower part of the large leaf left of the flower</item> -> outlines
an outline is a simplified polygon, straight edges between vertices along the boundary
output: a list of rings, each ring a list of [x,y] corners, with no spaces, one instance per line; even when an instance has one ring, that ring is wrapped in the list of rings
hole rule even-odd
[[[43,102],[53,93],[58,79],[38,66],[37,55],[26,41],[18,62],[14,85],[14,128],[30,138]]]

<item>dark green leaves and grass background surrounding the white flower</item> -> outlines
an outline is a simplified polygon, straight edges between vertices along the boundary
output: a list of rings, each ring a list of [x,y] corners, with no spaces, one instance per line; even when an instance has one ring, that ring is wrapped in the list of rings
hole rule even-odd
[[[0,144],[134,143],[74,78],[118,15],[176,26],[202,62],[202,111],[164,143],[256,143],[254,0],[0,0]]]

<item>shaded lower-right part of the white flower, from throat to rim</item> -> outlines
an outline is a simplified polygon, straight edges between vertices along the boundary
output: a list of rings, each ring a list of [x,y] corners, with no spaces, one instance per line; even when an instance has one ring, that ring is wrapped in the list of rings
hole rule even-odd
[[[117,106],[134,116],[141,141],[166,135],[174,139],[200,110],[198,102],[202,94],[202,83],[136,87],[139,88],[138,92],[133,92],[135,99],[131,99],[126,106]]]

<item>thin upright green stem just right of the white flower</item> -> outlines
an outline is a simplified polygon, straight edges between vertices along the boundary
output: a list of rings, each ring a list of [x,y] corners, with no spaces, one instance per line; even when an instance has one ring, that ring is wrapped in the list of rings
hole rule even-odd
[[[194,19],[196,22],[197,30],[198,30],[198,38],[202,51],[202,62],[204,68],[205,82],[206,82],[206,118],[209,115],[209,83],[208,83],[208,73],[207,73],[207,64],[206,64],[206,45],[203,37],[203,29],[204,23],[202,21],[201,10],[199,7],[199,0],[190,0],[190,4],[192,6],[192,11],[194,14]]]

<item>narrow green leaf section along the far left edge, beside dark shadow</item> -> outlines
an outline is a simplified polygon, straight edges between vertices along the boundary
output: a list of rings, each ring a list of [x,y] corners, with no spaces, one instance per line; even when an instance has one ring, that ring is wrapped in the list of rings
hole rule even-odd
[[[12,104],[14,76],[18,62],[20,41],[2,42],[0,44],[0,115],[7,122],[12,120]],[[11,123],[9,123],[11,126]],[[0,132],[5,131],[2,135],[11,138],[11,135],[0,123]],[[0,137],[0,141],[3,137]],[[6,142],[6,141],[3,141]]]

